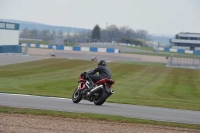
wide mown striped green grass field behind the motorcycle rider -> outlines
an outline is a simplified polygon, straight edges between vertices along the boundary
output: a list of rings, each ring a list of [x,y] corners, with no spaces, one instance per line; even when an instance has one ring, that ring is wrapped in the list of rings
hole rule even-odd
[[[107,101],[200,111],[200,71],[163,64],[108,63],[115,94]],[[81,72],[96,62],[46,59],[0,66],[0,92],[71,98]]]

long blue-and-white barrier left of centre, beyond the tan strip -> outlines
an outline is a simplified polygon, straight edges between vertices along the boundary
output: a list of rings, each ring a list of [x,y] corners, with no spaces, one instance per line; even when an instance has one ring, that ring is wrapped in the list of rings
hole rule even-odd
[[[119,49],[114,48],[98,48],[98,47],[79,47],[79,46],[52,46],[45,44],[20,44],[22,47],[33,47],[33,48],[47,48],[47,49],[55,49],[55,50],[70,50],[70,51],[87,51],[87,52],[105,52],[105,53],[120,53]]]

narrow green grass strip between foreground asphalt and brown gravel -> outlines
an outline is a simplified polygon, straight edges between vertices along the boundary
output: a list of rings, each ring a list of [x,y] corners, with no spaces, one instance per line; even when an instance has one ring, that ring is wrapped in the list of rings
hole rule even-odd
[[[100,115],[100,114],[89,114],[89,113],[72,113],[72,112],[60,112],[60,111],[48,111],[48,110],[34,110],[34,109],[23,109],[23,108],[12,108],[12,107],[3,107],[0,106],[0,113],[7,114],[25,114],[25,115],[47,115],[53,117],[67,117],[73,119],[94,119],[94,120],[103,120],[111,122],[123,122],[123,123],[134,123],[134,124],[151,124],[159,126],[168,126],[168,127],[180,127],[180,128],[189,128],[189,129],[200,129],[199,125],[195,124],[181,124],[174,122],[161,122],[153,120],[144,120],[136,118],[126,118],[121,116],[111,116],[111,115]]]

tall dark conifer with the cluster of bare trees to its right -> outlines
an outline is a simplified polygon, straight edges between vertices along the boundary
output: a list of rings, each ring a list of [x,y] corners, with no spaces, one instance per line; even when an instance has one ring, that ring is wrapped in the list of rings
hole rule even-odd
[[[96,25],[91,34],[91,41],[121,42],[136,45],[145,45],[145,42],[150,38],[151,36],[146,30],[133,30],[128,26],[117,27],[116,25],[110,25],[106,29],[101,29]]]

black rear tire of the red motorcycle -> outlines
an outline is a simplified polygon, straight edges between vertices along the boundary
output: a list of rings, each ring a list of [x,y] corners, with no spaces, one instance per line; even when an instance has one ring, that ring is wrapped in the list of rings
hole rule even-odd
[[[106,101],[106,99],[109,97],[108,93],[104,89],[102,89],[100,94],[101,95],[99,98],[94,98],[95,105],[102,105]]]

